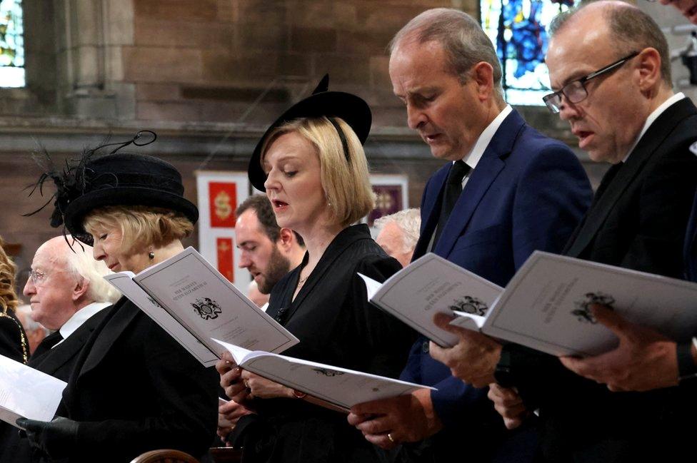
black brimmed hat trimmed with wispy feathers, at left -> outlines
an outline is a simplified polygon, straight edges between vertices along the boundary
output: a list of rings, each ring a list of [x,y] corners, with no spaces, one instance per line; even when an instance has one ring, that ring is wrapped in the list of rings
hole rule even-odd
[[[152,135],[154,141],[154,133]],[[140,132],[134,141],[139,136]],[[110,145],[124,146],[134,141]],[[148,143],[134,144],[143,146]],[[91,210],[104,206],[144,205],[174,210],[191,220],[191,223],[199,220],[196,205],[184,198],[181,174],[174,166],[144,154],[114,151],[109,154],[96,153],[104,146],[110,145],[84,151],[81,159],[66,164],[62,172],[50,168],[41,175],[37,183],[39,188],[48,178],[56,184],[56,194],[53,197],[55,210],[51,215],[51,226],[59,227],[63,224],[71,235],[91,245],[92,237],[84,229],[83,220]],[[36,212],[38,211],[34,213]]]

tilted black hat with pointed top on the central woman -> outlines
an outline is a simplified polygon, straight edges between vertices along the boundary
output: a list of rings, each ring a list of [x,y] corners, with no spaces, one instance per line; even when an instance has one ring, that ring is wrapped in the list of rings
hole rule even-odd
[[[259,143],[256,143],[254,153],[249,161],[249,181],[254,188],[266,191],[264,182],[266,173],[261,168],[261,148],[275,128],[286,122],[299,118],[316,118],[326,116],[328,118],[341,118],[353,129],[361,144],[366,143],[370,133],[373,115],[370,107],[363,98],[342,91],[329,91],[329,74],[324,76],[311,96],[299,101],[286,110],[274,123],[266,129]]]

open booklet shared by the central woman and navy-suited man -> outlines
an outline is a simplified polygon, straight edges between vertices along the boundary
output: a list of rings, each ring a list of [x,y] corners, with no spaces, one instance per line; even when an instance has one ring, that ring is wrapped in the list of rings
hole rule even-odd
[[[224,347],[237,365],[267,380],[305,392],[339,409],[348,411],[353,405],[370,400],[387,399],[433,387],[347,370],[346,368],[309,362],[270,352],[250,351],[215,340]]]

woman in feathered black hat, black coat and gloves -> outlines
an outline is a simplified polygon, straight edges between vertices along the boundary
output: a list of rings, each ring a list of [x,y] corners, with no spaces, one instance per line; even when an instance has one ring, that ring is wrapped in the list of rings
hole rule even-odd
[[[183,250],[198,218],[169,163],[85,153],[63,173],[52,223],[94,246],[112,270],[139,272]],[[79,246],[80,243],[73,243]],[[152,449],[205,456],[217,423],[217,378],[122,297],[76,360],[51,422],[20,419],[49,461],[129,462]]]

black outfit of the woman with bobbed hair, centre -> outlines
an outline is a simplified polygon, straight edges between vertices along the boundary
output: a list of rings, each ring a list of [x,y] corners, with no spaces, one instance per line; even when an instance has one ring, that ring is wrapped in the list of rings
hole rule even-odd
[[[293,300],[305,263],[271,292],[267,313],[276,317],[285,307],[282,323],[300,340],[284,355],[398,377],[416,333],[371,305],[356,273],[384,281],[401,265],[371,239],[366,225],[346,228],[334,238]],[[271,444],[261,455],[248,453],[254,458],[249,461],[378,461],[376,448],[344,414],[302,400],[256,400],[255,405],[268,427],[263,439]]]

